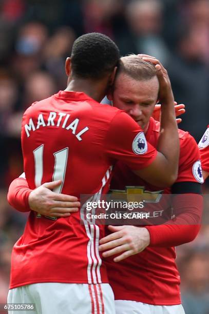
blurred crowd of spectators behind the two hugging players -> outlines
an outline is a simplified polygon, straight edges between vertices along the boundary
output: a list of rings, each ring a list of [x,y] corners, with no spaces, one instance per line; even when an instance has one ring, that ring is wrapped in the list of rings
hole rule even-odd
[[[110,36],[121,55],[160,59],[175,100],[186,105],[180,127],[197,142],[209,123],[208,0],[1,0],[0,303],[6,301],[11,249],[27,218],[6,200],[9,183],[23,172],[22,114],[32,102],[65,89],[72,43],[93,31]],[[204,193],[209,194],[207,184]],[[208,314],[209,225],[177,252],[186,314]]]

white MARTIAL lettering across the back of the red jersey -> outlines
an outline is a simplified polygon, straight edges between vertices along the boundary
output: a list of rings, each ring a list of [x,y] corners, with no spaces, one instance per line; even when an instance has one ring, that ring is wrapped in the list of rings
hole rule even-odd
[[[58,119],[57,119],[58,118]],[[28,124],[25,124],[25,132],[27,134],[27,137],[29,138],[30,132],[35,131],[39,129],[40,127],[61,127],[66,130],[71,130],[72,134],[75,135],[75,137],[82,141],[81,135],[83,135],[86,131],[89,130],[89,128],[86,126],[83,128],[80,132],[76,134],[77,127],[79,125],[79,119],[76,118],[73,121],[68,121],[70,118],[69,113],[64,112],[49,112],[48,116],[45,118],[42,113],[37,116],[36,122],[34,122],[34,119],[30,117]],[[56,122],[54,121],[56,120]],[[70,123],[69,123],[70,122]]]

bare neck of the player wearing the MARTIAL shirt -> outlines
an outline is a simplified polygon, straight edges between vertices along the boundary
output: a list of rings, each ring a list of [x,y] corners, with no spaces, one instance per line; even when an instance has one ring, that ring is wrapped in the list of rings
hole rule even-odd
[[[101,102],[106,95],[105,84],[92,80],[71,79],[65,91],[83,92],[97,102]]]

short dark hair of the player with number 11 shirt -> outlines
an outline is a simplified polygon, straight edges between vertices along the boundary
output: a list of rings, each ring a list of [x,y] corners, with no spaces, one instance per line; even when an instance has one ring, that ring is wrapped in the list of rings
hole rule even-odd
[[[79,78],[102,78],[118,65],[117,45],[106,35],[88,33],[75,40],[72,46],[72,75]]]

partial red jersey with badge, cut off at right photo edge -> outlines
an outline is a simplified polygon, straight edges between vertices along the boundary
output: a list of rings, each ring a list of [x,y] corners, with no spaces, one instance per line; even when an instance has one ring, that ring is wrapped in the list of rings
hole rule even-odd
[[[198,147],[200,149],[202,169],[209,173],[209,125],[207,126]]]

